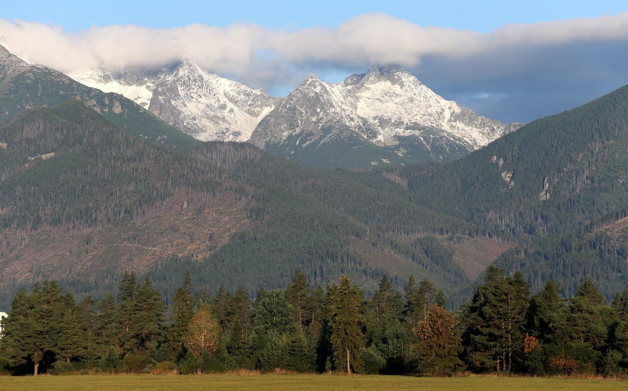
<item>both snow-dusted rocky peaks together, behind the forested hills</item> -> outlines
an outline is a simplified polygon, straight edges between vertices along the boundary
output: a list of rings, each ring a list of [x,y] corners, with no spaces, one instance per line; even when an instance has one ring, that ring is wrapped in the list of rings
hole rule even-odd
[[[202,141],[250,141],[311,166],[398,166],[447,161],[521,124],[502,124],[436,95],[402,68],[373,67],[342,83],[310,75],[287,97],[269,97],[190,60],[152,70],[71,73],[134,100]]]

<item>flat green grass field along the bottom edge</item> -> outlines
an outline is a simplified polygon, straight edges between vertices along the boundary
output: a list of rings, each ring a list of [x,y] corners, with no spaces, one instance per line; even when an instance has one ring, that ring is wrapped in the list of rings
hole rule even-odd
[[[0,377],[4,390],[627,390],[628,381],[525,377],[72,375]]]

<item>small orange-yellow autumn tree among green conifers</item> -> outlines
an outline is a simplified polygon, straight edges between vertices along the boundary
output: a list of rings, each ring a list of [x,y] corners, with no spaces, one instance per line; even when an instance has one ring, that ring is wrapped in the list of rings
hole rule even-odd
[[[203,304],[190,321],[185,346],[197,357],[212,356],[218,350],[219,338],[220,324],[210,312],[209,307]],[[200,374],[201,360],[198,362],[197,373]]]

